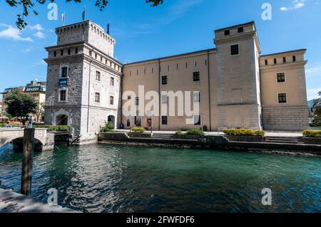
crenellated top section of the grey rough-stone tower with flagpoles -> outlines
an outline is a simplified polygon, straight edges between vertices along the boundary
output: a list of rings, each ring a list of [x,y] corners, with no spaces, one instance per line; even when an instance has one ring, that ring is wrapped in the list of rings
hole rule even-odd
[[[57,45],[66,45],[85,41],[96,46],[108,56],[113,57],[115,38],[106,33],[101,26],[91,21],[82,21],[56,28]]]

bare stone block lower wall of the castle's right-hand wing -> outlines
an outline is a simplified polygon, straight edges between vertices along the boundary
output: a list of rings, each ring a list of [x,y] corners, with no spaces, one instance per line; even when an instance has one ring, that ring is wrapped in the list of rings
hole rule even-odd
[[[265,130],[307,130],[307,106],[263,106],[263,127]]]

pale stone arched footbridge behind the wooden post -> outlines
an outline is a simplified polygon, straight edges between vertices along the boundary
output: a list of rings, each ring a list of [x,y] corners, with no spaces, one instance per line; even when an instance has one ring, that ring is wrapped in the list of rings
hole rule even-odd
[[[24,139],[24,128],[1,128],[0,147],[8,142],[12,142],[14,147],[19,147]],[[54,134],[47,132],[45,128],[35,129],[34,132],[36,149],[54,149]],[[22,150],[21,150],[22,152]]]

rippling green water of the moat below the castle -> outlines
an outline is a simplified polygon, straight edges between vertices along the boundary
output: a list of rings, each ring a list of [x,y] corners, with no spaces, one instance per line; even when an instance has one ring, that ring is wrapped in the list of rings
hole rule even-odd
[[[22,154],[0,149],[19,192]],[[36,153],[32,196],[85,212],[320,212],[321,159],[94,144]],[[261,191],[272,189],[272,206]]]

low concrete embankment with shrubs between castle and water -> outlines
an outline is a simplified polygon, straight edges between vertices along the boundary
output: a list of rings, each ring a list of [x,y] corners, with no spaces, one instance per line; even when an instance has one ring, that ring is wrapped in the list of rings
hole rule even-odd
[[[128,137],[126,133],[101,133],[98,142],[107,144],[135,144],[147,147],[190,147],[205,149],[223,149],[245,152],[263,152],[275,154],[299,154],[321,156],[320,144],[291,144],[282,142],[238,142],[224,136],[203,136],[198,139],[177,139],[156,137]]]

